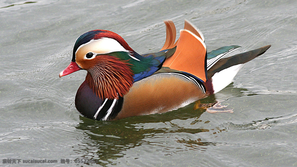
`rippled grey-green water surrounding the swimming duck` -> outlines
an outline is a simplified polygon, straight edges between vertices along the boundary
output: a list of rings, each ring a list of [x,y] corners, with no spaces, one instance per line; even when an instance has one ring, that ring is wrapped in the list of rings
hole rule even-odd
[[[25,2],[0,1],[0,166],[297,165],[297,1]],[[272,45],[227,88],[202,100],[224,100],[233,113],[210,114],[190,104],[114,122],[80,116],[74,98],[86,71],[58,76],[79,35],[106,29],[138,53],[151,53],[165,42],[162,20],[182,29],[185,18],[203,32],[208,51]]]

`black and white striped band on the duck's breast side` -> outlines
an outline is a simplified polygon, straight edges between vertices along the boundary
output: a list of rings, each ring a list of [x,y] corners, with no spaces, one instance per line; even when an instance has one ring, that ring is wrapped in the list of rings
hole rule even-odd
[[[121,111],[123,101],[123,97],[119,97],[119,99],[114,100],[105,99],[103,104],[95,113],[94,119],[107,121],[109,118],[115,117]]]

